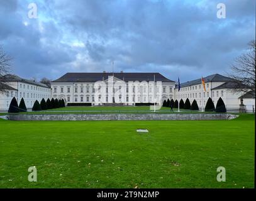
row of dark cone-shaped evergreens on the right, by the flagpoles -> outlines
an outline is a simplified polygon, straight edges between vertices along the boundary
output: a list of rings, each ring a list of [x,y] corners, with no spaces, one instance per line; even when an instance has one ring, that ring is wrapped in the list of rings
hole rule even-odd
[[[203,102],[202,102],[203,104]],[[171,100],[164,100],[162,107],[170,107],[170,108],[180,108],[180,109],[190,109],[191,111],[198,111],[198,102],[196,102],[196,99],[193,100],[192,104],[190,103],[189,99],[187,98],[185,103],[184,100],[178,100],[171,99]],[[211,97],[206,102],[206,106],[204,107],[204,111],[215,111],[215,112],[226,112],[226,106],[221,97],[218,99],[218,102],[216,104],[216,108],[214,106],[213,100]]]

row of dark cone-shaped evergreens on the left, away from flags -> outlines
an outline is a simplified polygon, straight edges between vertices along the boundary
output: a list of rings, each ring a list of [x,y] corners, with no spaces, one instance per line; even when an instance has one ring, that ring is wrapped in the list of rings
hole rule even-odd
[[[64,99],[47,99],[47,101],[45,101],[45,99],[42,99],[41,102],[38,102],[38,100],[36,100],[33,104],[32,107],[32,111],[44,111],[47,109],[55,109],[55,108],[59,108],[59,107],[65,107],[65,101]],[[11,103],[9,105],[9,110],[8,112],[11,113],[16,113],[16,112],[26,112],[26,104],[24,99],[22,98],[21,101],[18,102],[16,100],[15,97],[13,97],[13,99],[11,100]]]

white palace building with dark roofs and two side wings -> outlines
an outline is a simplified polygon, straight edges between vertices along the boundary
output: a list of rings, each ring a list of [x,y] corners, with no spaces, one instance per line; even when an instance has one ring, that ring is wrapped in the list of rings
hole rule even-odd
[[[221,97],[228,111],[238,110],[241,100],[247,111],[255,111],[255,97],[233,90],[233,79],[220,74],[204,77],[206,91],[202,89],[201,79],[177,84],[160,73],[65,73],[51,82],[51,87],[22,79],[16,75],[6,75],[4,88],[6,94],[0,94],[0,111],[9,108],[15,96],[19,101],[23,97],[26,107],[30,109],[35,100],[44,98],[64,99],[68,106],[140,106],[161,105],[164,100],[174,99],[184,102],[194,99],[198,106],[205,107],[209,97],[214,105]]]

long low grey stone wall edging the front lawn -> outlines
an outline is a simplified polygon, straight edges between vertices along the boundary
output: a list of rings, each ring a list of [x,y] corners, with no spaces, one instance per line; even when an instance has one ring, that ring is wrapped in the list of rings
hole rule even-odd
[[[233,114],[15,114],[14,121],[116,121],[116,120],[213,120],[234,119]]]

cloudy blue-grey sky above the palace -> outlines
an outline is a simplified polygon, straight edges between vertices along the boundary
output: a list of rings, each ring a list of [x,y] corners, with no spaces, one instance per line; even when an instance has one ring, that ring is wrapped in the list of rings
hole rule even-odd
[[[35,3],[37,18],[29,18]],[[218,3],[226,18],[216,16]],[[255,38],[254,0],[0,0],[13,73],[160,72],[181,82],[229,71]]]

